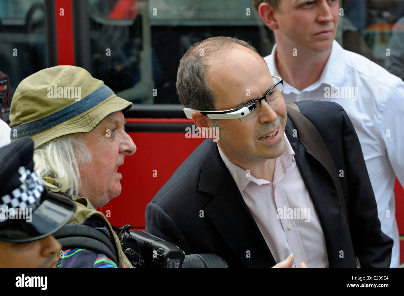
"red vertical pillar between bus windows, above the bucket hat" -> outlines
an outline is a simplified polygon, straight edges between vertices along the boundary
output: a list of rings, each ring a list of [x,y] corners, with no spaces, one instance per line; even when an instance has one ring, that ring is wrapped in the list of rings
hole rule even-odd
[[[63,15],[60,9],[63,8]],[[73,15],[71,0],[55,0],[57,64],[74,66]]]

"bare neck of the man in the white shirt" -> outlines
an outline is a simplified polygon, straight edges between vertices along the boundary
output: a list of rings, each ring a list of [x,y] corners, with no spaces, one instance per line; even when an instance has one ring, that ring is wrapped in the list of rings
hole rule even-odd
[[[326,52],[299,50],[293,56],[294,48],[285,44],[276,44],[276,68],[284,81],[302,91],[320,79],[321,73],[331,54]]]

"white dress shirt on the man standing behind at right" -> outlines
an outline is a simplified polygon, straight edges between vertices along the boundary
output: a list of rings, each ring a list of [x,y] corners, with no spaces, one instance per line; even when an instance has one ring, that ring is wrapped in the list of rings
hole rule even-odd
[[[279,75],[275,57],[276,45],[265,61],[271,74]],[[365,57],[344,50],[334,40],[320,79],[302,91],[284,81],[283,96],[286,103],[332,101],[345,109],[362,146],[381,230],[394,241],[390,267],[398,267],[394,181],[397,175],[404,185],[404,82]]]

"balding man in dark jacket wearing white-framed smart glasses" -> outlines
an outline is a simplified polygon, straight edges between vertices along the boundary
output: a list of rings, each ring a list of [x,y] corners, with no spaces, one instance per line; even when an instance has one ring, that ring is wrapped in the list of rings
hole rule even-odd
[[[286,112],[282,79],[246,42],[194,44],[180,61],[177,91],[187,117],[219,128],[219,139],[205,140],[151,200],[146,232],[188,254],[217,254],[230,268],[389,267],[392,240],[381,232],[341,106],[296,104],[328,148],[335,180],[302,144],[305,130]]]

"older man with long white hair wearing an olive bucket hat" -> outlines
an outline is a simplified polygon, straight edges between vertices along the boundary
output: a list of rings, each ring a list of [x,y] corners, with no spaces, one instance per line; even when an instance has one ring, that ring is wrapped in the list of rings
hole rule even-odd
[[[11,141],[34,141],[36,173],[48,190],[76,204],[69,224],[101,231],[118,253],[116,264],[103,253],[68,248],[57,267],[132,267],[111,224],[95,210],[120,194],[118,168],[136,151],[122,113],[131,105],[85,69],[66,65],[34,73],[15,91]]]

